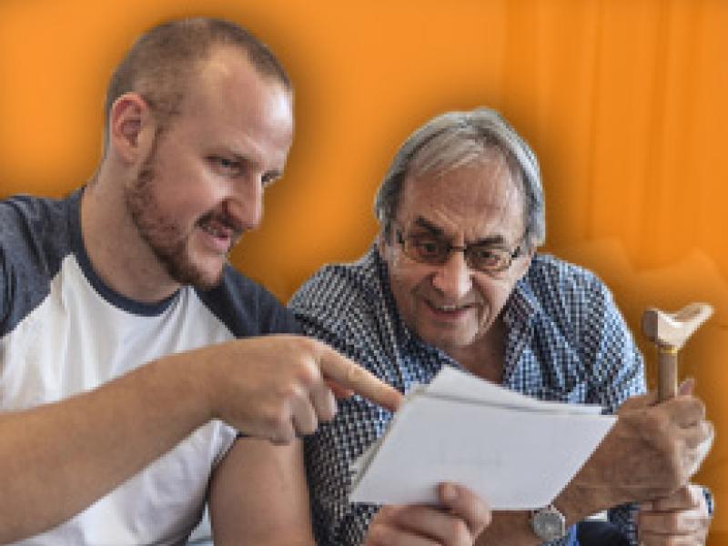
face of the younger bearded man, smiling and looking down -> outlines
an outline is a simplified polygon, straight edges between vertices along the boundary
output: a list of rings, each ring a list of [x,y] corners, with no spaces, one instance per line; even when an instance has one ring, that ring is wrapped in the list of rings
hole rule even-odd
[[[214,50],[192,77],[126,187],[126,206],[171,278],[211,288],[230,248],[258,227],[265,186],[283,173],[292,99],[232,48]]]

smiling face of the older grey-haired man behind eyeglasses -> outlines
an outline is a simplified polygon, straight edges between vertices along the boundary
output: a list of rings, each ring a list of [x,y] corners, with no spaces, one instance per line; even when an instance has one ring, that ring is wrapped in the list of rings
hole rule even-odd
[[[518,183],[501,152],[489,150],[472,165],[406,178],[394,230],[457,247],[484,242],[512,250],[522,243],[522,211]],[[380,252],[405,324],[450,354],[484,339],[531,261],[527,254],[500,273],[485,273],[452,251],[444,264],[429,265],[405,255],[396,234]]]

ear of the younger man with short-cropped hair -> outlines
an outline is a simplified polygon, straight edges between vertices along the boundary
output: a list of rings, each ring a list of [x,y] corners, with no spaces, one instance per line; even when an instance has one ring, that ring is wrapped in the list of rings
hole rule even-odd
[[[146,157],[147,134],[154,135],[154,117],[138,93],[125,93],[111,106],[109,147],[127,163]]]

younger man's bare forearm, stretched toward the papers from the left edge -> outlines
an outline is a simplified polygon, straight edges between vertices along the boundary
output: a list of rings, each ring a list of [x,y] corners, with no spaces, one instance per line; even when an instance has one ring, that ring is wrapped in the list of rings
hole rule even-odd
[[[83,511],[209,416],[189,369],[162,359],[85,394],[0,415],[0,542]]]

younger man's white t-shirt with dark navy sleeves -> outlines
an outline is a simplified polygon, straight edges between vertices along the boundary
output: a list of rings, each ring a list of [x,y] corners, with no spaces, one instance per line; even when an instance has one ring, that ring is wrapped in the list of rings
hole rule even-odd
[[[213,290],[182,288],[159,304],[113,292],[81,242],[80,195],[0,202],[0,411],[95,389],[170,353],[296,331],[275,298],[232,268]],[[70,521],[20,543],[185,543],[237,434],[207,423]]]

